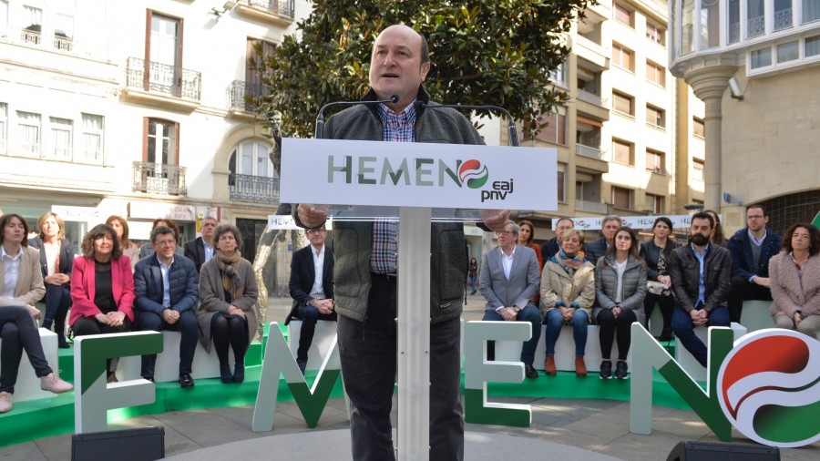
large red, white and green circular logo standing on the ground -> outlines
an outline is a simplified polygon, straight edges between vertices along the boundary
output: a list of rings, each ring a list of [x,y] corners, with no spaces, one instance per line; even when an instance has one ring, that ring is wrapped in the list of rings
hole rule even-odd
[[[755,442],[784,448],[820,440],[820,342],[792,330],[743,336],[723,360],[718,401]]]

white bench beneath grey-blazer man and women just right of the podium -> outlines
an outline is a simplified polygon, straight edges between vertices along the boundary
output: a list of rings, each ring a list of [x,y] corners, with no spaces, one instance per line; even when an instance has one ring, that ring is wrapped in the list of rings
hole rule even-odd
[[[587,365],[587,370],[592,373],[600,371],[600,327],[598,325],[587,326],[587,347],[584,352],[584,364]],[[544,369],[544,359],[547,358],[547,343],[545,340],[547,332],[547,325],[541,325],[541,338],[538,340],[538,347],[536,348],[535,360],[532,366],[536,370]],[[518,362],[521,358],[520,341],[497,341],[496,342],[496,360]],[[618,342],[617,340],[612,344],[612,353],[610,355],[612,360],[618,360]],[[627,354],[627,364],[632,362],[632,351]],[[575,340],[572,338],[572,327],[562,326],[561,334],[558,343],[555,343],[555,367],[562,372],[575,371]]]

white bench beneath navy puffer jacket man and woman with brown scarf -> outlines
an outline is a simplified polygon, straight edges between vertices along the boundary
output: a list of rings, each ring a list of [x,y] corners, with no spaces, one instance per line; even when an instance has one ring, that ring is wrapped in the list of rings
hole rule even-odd
[[[182,333],[163,331],[162,333],[162,353],[157,354],[157,363],[154,366],[154,381],[157,383],[170,383],[179,381],[179,341]],[[228,347],[228,362],[233,370],[233,349]],[[119,359],[117,367],[117,379],[126,381],[138,379],[142,369],[142,357],[132,355]],[[211,344],[210,353],[205,352],[205,348],[197,341],[197,350],[194,353],[194,360],[191,366],[191,377],[194,379],[207,379],[220,377],[220,359]]]

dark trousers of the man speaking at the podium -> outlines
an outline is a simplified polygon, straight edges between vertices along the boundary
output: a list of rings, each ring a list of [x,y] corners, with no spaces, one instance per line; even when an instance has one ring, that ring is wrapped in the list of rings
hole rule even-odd
[[[397,287],[395,277],[384,274],[372,274],[372,281],[364,323],[340,315],[337,327],[356,461],[395,459],[390,411],[397,367]],[[431,460],[464,458],[460,342],[459,318],[430,325]],[[368,420],[373,425],[367,425]]]

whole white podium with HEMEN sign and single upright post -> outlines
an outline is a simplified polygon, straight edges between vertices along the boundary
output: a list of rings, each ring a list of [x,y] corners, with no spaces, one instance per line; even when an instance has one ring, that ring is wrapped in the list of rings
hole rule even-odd
[[[336,205],[333,220],[398,217],[398,459],[429,458],[431,222],[555,210],[544,177],[557,178],[555,149],[282,139],[283,202]]]

